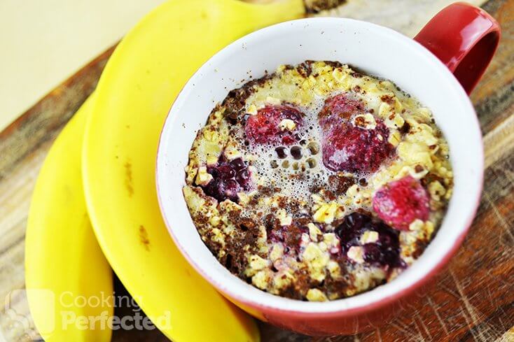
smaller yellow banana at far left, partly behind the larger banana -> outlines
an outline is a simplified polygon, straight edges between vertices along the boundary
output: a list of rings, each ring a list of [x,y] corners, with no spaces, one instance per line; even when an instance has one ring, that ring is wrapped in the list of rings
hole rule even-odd
[[[45,341],[111,340],[105,320],[113,315],[112,271],[90,225],[81,177],[91,101],[48,152],[29,211],[25,281],[30,312]],[[90,325],[95,318],[103,318],[103,326],[100,321]]]

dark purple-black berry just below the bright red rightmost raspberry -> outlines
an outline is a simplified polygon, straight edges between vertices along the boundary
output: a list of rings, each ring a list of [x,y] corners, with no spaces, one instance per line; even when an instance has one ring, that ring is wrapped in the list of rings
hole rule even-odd
[[[361,236],[365,231],[376,231],[377,241],[362,245]],[[342,224],[335,229],[335,234],[340,238],[343,254],[346,254],[352,246],[362,246],[363,259],[369,264],[388,268],[403,266],[400,258],[399,233],[381,220],[361,213],[352,213],[347,215]]]

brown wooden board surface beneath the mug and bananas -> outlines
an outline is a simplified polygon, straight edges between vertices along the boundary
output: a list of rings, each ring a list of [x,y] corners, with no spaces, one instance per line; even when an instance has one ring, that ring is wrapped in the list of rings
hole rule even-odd
[[[349,0],[318,15],[356,17],[413,36],[447,0]],[[514,0],[471,1],[501,24],[499,51],[471,94],[485,143],[485,187],[473,226],[419,304],[373,332],[310,338],[259,323],[263,341],[514,341]],[[41,99],[0,133],[0,300],[27,320],[13,325],[3,306],[0,341],[31,341],[23,290],[29,201],[48,148],[95,89],[113,48]],[[118,292],[125,291],[119,282]],[[4,335],[3,335],[4,334]],[[114,332],[113,341],[167,341],[157,330]],[[72,342],[72,341],[70,341]]]

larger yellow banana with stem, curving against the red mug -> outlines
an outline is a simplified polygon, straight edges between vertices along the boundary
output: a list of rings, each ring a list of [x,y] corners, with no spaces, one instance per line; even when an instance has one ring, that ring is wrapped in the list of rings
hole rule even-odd
[[[154,179],[162,123],[211,55],[303,12],[302,0],[168,1],[125,36],[99,81],[83,149],[90,218],[122,283],[174,341],[257,341],[258,331],[183,259],[162,222]],[[166,313],[169,324],[158,319]]]

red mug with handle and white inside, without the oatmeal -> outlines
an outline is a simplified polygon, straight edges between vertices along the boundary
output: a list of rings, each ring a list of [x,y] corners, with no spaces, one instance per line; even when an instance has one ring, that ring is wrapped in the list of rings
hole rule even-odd
[[[387,322],[412,297],[425,293],[424,285],[433,282],[457,252],[473,221],[482,190],[483,150],[480,126],[467,94],[487,68],[499,38],[499,24],[489,14],[454,3],[438,13],[415,41],[375,24],[321,17],[267,27],[228,45],[188,81],[162,129],[158,197],[177,247],[226,298],[284,329],[332,336],[356,334]],[[454,169],[454,192],[445,219],[423,255],[390,283],[321,303],[275,296],[232,275],[201,241],[181,191],[183,168],[195,138],[194,130],[182,127],[202,127],[212,101],[222,101],[226,89],[235,87],[230,80],[245,79],[249,70],[262,76],[280,64],[305,59],[351,64],[413,94],[432,109],[450,145]]]

